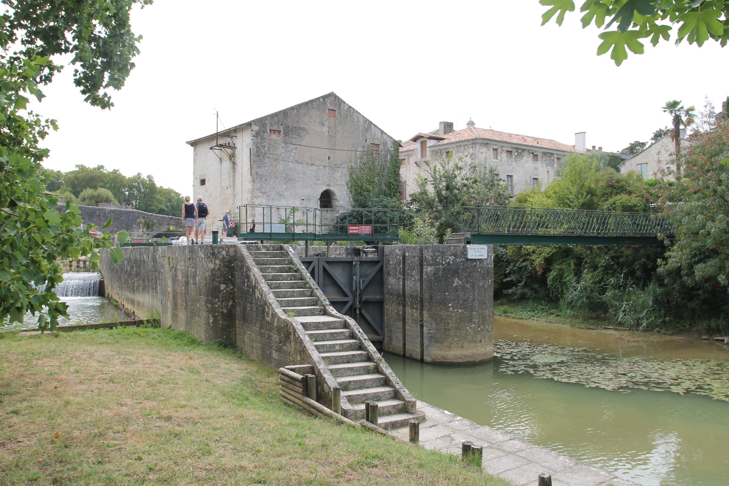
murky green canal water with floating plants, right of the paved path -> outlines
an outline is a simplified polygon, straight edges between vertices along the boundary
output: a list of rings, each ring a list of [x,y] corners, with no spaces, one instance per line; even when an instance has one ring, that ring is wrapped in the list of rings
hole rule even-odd
[[[494,318],[493,363],[386,361],[416,399],[646,486],[729,484],[729,350]]]

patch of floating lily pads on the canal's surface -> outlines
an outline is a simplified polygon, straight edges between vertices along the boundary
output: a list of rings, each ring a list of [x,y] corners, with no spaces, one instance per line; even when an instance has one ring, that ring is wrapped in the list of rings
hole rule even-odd
[[[587,348],[494,341],[494,356],[507,375],[530,373],[563,383],[605,390],[642,388],[695,393],[729,401],[729,362],[702,359],[650,360],[599,354]]]

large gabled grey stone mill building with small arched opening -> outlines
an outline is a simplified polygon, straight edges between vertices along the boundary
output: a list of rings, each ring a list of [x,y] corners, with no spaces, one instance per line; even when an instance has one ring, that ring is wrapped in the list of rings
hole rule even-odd
[[[208,221],[246,203],[349,207],[347,169],[367,149],[394,139],[335,93],[187,142],[192,146],[193,200]],[[217,227],[217,226],[216,226]]]

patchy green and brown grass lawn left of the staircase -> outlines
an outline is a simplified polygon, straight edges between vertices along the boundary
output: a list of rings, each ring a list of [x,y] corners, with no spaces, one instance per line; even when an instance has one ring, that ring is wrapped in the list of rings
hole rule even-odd
[[[0,337],[0,485],[509,485],[313,418],[276,369],[169,329]]]

